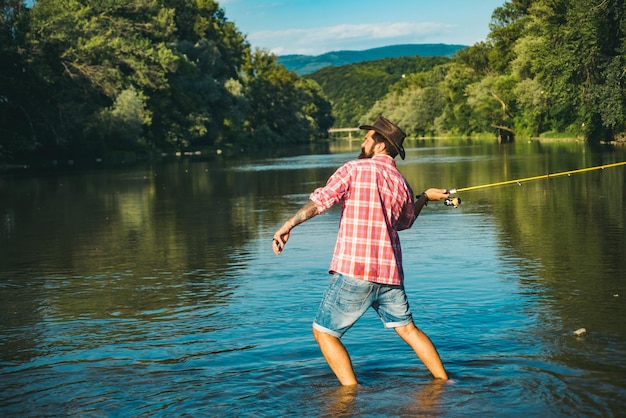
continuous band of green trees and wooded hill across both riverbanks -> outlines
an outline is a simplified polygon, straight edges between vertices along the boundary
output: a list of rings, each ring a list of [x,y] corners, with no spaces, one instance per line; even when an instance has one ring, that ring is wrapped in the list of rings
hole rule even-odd
[[[380,113],[410,136],[615,140],[625,33],[621,0],[511,0],[452,58],[300,77],[212,0],[4,0],[0,161],[281,148]]]

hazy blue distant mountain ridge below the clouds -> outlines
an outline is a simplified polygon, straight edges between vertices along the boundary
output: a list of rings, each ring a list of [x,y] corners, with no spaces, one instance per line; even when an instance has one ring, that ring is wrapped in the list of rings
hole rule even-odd
[[[299,75],[314,73],[324,67],[354,64],[363,61],[373,61],[382,58],[398,57],[451,57],[458,50],[467,48],[467,45],[449,44],[407,44],[391,45],[381,48],[366,49],[364,51],[333,51],[322,55],[279,55],[278,63],[289,71]]]

